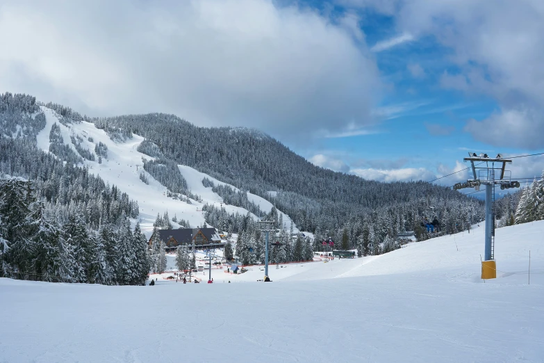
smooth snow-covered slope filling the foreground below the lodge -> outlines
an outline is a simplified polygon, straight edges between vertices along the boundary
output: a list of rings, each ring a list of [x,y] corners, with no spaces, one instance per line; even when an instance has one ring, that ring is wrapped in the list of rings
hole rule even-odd
[[[543,235],[497,229],[486,282],[483,228],[271,266],[269,284],[258,267],[154,287],[0,279],[0,362],[543,362]]]

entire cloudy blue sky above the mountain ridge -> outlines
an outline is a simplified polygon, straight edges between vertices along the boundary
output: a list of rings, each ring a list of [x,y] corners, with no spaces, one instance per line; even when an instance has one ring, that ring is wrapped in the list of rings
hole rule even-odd
[[[254,127],[366,179],[544,152],[541,0],[0,0],[0,33],[0,92]]]

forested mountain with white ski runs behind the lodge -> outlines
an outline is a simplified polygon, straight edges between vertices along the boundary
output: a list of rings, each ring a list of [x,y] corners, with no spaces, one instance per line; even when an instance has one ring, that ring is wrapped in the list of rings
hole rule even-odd
[[[177,225],[206,222],[233,232],[247,227],[245,216],[274,218],[278,227],[293,225],[293,232],[353,248],[368,242],[370,225],[375,243],[382,243],[418,229],[422,218],[436,216],[446,233],[455,233],[484,216],[481,201],[450,188],[381,183],[319,168],[254,129],[196,127],[162,113],[88,118],[9,93],[0,97],[0,124],[0,172],[37,181],[47,201],[63,209],[53,211],[61,223],[85,209],[96,229],[106,209],[114,220],[124,211],[149,236],[151,223],[165,212]],[[49,154],[44,168],[36,165],[42,152]],[[58,163],[84,168],[76,181],[74,169]],[[92,180],[93,197],[85,195],[87,173],[99,176]],[[115,188],[106,193],[106,184]],[[99,193],[105,193],[102,201]],[[112,207],[118,193],[119,206]],[[176,220],[170,221],[174,227]]]

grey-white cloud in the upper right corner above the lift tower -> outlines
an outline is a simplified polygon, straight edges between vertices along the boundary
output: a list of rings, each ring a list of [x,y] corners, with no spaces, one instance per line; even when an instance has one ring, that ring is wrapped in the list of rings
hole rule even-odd
[[[400,31],[434,35],[452,50],[449,59],[461,73],[445,72],[443,87],[499,102],[502,113],[470,121],[466,131],[491,145],[519,147],[525,139],[544,147],[544,1],[406,0],[395,19]]]

